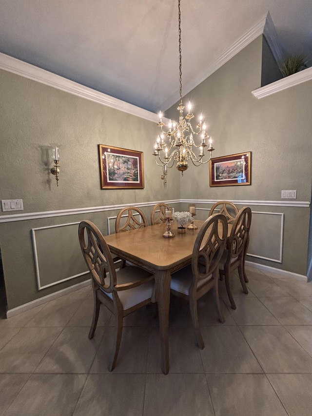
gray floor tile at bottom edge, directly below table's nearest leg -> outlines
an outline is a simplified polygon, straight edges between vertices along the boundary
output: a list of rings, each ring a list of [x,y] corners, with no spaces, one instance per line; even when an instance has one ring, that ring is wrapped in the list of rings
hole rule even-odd
[[[149,374],[143,416],[214,416],[203,374]]]

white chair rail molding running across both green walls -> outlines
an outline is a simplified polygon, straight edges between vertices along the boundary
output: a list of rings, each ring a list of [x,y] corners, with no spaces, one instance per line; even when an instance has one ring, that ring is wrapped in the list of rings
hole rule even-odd
[[[135,205],[137,207],[148,207],[154,206],[159,202],[166,202],[167,204],[178,204],[180,202],[186,203],[203,203],[203,204],[215,204],[219,199],[170,199],[166,201],[152,201],[152,202],[133,202],[130,204],[118,204],[118,205],[104,205],[97,207],[86,207],[86,208],[72,208],[55,211],[41,211],[41,212],[30,212],[25,214],[9,214],[0,215],[1,222],[14,222],[14,221],[25,221],[29,219],[38,218],[52,218],[52,217],[63,217],[67,215],[76,214],[88,214],[91,212],[103,212],[103,211],[114,211],[120,210],[129,205]],[[266,200],[235,200],[229,199],[235,205],[258,205],[258,206],[280,206],[280,207],[304,207],[309,208],[309,201],[266,201]],[[207,208],[208,209],[208,208]]]

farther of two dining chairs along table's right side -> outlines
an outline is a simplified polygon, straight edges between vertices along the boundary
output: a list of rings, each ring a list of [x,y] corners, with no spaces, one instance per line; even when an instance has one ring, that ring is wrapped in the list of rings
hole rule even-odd
[[[252,210],[249,207],[242,208],[234,220],[226,249],[220,260],[219,273],[221,277],[224,276],[226,290],[233,309],[236,309],[236,305],[231,291],[230,276],[235,269],[238,269],[243,292],[248,294],[246,286],[245,257],[249,243],[251,221]]]

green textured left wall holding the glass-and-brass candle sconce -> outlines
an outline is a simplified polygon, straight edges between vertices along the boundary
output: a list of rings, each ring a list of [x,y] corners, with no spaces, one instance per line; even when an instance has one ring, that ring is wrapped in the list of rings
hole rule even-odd
[[[161,168],[156,166],[152,156],[158,129],[156,123],[2,70],[0,97],[0,199],[23,199],[24,210],[17,214],[180,197],[179,186],[176,186],[178,172],[169,173],[164,189]],[[55,177],[50,174],[53,164],[49,154],[51,142],[61,143],[58,188]],[[145,188],[101,190],[99,143],[142,151]],[[106,234],[106,218],[116,214],[101,212],[0,223],[8,308],[86,278],[77,277],[38,292],[32,228],[91,219]],[[150,209],[146,209],[146,214],[150,215]],[[52,237],[50,243],[62,245],[62,241],[54,241]],[[47,258],[50,255],[47,251]],[[51,273],[57,276],[61,267],[61,264],[56,265]]]

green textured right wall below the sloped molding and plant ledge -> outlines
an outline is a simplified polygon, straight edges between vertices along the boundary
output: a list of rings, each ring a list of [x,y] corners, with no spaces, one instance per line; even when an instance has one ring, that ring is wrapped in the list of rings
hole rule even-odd
[[[181,179],[181,198],[278,201],[281,190],[296,189],[298,201],[311,200],[312,81],[256,99],[251,92],[261,85],[261,61],[262,36],[183,99],[206,117],[213,157],[252,152],[252,184],[210,188],[209,164],[191,165]],[[176,118],[176,105],[166,117]],[[284,213],[285,223],[282,264],[250,260],[306,275],[310,208],[252,209]]]

